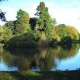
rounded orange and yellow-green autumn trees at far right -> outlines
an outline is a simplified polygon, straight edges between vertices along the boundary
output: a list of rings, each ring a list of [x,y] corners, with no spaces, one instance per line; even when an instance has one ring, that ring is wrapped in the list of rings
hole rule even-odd
[[[56,35],[61,39],[65,39],[66,37],[70,37],[72,40],[79,40],[79,33],[76,28],[72,26],[67,26],[65,24],[60,24],[55,27]]]

